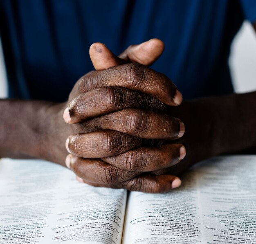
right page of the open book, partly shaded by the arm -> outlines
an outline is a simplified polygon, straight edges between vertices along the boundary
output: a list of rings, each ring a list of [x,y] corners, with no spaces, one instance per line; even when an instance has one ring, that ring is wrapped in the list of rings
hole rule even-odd
[[[256,156],[212,158],[182,179],[168,193],[130,193],[122,243],[256,243]]]

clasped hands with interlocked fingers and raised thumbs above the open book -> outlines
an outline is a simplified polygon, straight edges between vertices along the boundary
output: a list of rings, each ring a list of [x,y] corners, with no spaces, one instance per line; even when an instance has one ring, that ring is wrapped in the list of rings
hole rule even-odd
[[[163,50],[159,45],[152,40],[131,46],[123,59],[103,44],[91,47],[97,71],[79,79],[63,114],[74,132],[66,141],[66,164],[79,181],[143,192],[180,185],[177,176],[152,173],[186,155],[185,147],[173,141],[183,136],[184,123],[168,114],[182,95],[168,77],[142,65],[157,59]],[[155,53],[147,54],[147,48]]]

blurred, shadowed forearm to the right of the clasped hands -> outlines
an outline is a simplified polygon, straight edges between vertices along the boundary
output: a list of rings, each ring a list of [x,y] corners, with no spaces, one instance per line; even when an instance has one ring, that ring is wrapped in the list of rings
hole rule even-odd
[[[256,152],[256,92],[184,101],[174,115],[184,121],[181,143],[193,162],[209,156]]]

